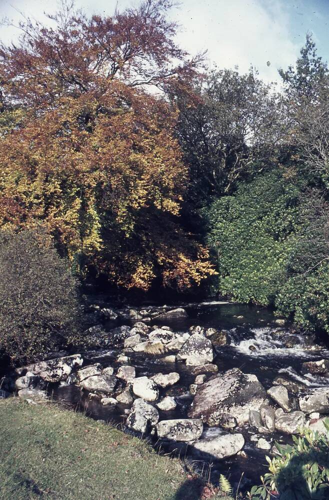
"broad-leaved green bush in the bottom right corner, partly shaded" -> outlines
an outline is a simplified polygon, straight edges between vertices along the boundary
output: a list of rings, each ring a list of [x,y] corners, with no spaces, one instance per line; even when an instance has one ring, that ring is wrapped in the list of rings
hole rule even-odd
[[[269,472],[262,486],[253,486],[248,493],[252,500],[318,500],[329,494],[329,420],[325,420],[326,434],[319,435],[304,429],[300,436],[292,436],[293,445],[281,447],[275,443],[278,455],[266,456]]]

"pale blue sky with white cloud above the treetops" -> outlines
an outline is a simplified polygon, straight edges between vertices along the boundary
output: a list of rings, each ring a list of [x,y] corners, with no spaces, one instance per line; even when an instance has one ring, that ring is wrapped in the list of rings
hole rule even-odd
[[[111,15],[134,0],[76,0],[86,13]],[[44,19],[54,0],[0,0],[0,18],[14,23],[20,14]],[[278,68],[296,60],[307,31],[312,32],[319,55],[329,60],[329,0],[180,0],[170,16],[179,23],[177,42],[191,54],[207,49],[211,68],[247,71],[250,64],[266,81],[279,81]],[[0,38],[17,36],[12,27],[0,27]],[[269,64],[268,64],[269,62]]]

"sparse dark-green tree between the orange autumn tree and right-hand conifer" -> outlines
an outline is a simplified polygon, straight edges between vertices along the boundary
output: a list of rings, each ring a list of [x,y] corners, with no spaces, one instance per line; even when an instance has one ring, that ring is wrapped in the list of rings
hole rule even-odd
[[[246,74],[212,71],[170,95],[179,109],[177,136],[194,202],[229,194],[276,160],[285,126],[282,102],[252,68]]]

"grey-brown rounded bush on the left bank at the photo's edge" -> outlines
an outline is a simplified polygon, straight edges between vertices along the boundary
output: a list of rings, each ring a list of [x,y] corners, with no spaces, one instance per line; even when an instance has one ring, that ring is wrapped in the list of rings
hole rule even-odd
[[[32,360],[73,341],[77,281],[42,228],[0,232],[0,350]]]

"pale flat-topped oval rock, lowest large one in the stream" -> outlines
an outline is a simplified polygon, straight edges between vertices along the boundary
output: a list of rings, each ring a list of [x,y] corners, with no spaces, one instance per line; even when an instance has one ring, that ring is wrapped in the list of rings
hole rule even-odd
[[[196,450],[201,455],[205,454],[209,459],[227,458],[235,455],[244,446],[244,438],[242,434],[223,434],[217,437],[199,439],[192,444],[193,450]]]

